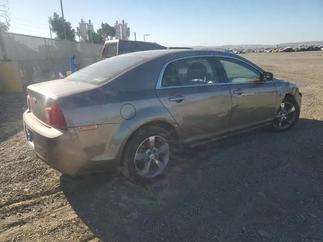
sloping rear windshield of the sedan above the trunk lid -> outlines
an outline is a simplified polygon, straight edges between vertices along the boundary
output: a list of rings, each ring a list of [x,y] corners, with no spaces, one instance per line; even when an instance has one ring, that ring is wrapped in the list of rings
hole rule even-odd
[[[66,79],[101,85],[127,69],[139,65],[145,59],[147,58],[141,56],[115,56],[109,59],[103,59],[69,75]]]

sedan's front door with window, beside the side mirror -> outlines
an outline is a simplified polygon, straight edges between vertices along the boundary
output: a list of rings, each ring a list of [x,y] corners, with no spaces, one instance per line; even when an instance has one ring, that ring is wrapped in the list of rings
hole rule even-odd
[[[232,57],[219,57],[232,97],[230,132],[259,126],[275,116],[277,88],[262,73]]]

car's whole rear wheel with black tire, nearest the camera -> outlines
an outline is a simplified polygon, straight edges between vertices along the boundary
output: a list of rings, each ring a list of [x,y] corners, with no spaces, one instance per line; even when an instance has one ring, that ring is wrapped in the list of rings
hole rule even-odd
[[[152,139],[151,137],[154,138]],[[155,147],[153,147],[153,153],[155,153],[156,156],[154,156],[154,154],[152,155],[151,149],[148,147],[149,144],[151,144],[151,140],[154,140],[154,145],[156,147],[159,145],[159,147],[163,148],[168,145],[169,151],[157,155],[158,149],[156,148],[155,150]],[[167,168],[167,163],[170,160],[171,151],[173,150],[173,144],[173,137],[163,128],[158,126],[146,126],[139,129],[133,134],[133,137],[130,138],[124,149],[121,172],[135,183],[142,183],[155,179],[165,171],[165,168]],[[138,156],[136,154],[138,154]],[[144,158],[141,159],[141,156]],[[157,162],[156,160],[160,161]],[[147,165],[147,163],[150,163],[150,165]],[[148,173],[145,172],[146,165],[149,166]],[[160,167],[164,167],[164,169],[161,170]],[[152,172],[154,169],[156,169],[155,173]],[[158,172],[158,169],[160,172]],[[152,172],[151,174],[150,170]]]

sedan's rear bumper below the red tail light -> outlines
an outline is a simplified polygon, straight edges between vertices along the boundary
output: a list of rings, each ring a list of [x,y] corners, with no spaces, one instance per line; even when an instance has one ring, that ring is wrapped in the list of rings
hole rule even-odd
[[[29,147],[45,163],[70,175],[114,169],[120,164],[122,134],[129,129],[120,124],[100,125],[96,130],[57,130],[42,124],[32,112],[23,114]],[[121,131],[120,131],[121,130]],[[26,132],[27,133],[27,132]],[[119,139],[115,139],[115,135]]]

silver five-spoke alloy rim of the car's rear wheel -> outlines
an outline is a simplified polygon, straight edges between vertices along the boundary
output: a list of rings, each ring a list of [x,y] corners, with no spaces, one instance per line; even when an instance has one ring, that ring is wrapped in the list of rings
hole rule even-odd
[[[135,154],[135,167],[139,175],[152,178],[166,167],[170,156],[170,146],[163,137],[151,136],[145,139]]]

